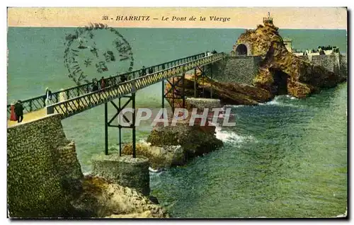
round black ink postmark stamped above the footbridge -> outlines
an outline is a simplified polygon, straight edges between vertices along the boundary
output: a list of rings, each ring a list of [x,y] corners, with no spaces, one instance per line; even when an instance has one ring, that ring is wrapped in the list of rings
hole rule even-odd
[[[65,40],[64,65],[76,85],[133,69],[134,58],[129,42],[118,30],[103,23],[77,28],[74,33],[66,35]]]

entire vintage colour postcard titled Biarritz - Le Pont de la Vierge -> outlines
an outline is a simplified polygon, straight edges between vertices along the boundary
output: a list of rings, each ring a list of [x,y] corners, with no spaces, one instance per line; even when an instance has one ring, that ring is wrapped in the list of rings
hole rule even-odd
[[[347,218],[348,9],[18,8],[8,218]]]

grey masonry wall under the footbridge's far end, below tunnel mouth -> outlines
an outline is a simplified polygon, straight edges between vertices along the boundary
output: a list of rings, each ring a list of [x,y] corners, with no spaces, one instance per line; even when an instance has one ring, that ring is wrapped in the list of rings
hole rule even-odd
[[[216,81],[252,84],[258,72],[261,57],[237,56],[225,57],[212,64],[212,77]]]

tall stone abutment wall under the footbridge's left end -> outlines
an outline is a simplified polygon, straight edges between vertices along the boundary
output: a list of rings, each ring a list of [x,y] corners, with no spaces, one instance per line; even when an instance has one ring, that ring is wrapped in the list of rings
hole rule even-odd
[[[9,217],[60,217],[83,178],[59,115],[7,129]]]

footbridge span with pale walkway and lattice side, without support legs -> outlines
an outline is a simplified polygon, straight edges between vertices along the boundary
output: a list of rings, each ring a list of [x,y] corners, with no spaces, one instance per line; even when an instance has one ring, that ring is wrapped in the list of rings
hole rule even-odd
[[[27,100],[24,103],[24,108],[26,109],[23,115],[23,122],[29,122],[32,120],[39,119],[40,117],[45,117],[51,113],[59,113],[62,115],[62,119],[66,117],[70,117],[72,115],[76,115],[77,113],[81,113],[84,110],[89,110],[97,105],[101,105],[103,103],[107,103],[110,100],[115,98],[120,98],[122,96],[126,96],[130,93],[133,93],[139,89],[150,86],[154,83],[158,83],[164,81],[164,79],[169,79],[172,76],[176,76],[178,74],[185,73],[190,69],[194,69],[195,67],[202,67],[206,64],[211,64],[213,62],[217,62],[224,57],[224,53],[212,54],[207,57],[200,57],[201,54],[198,54],[198,57],[185,57],[183,59],[177,59],[174,62],[179,62],[180,64],[166,63],[166,69],[160,69],[152,74],[148,74],[145,76],[140,76],[135,79],[131,79],[130,81],[125,81],[124,83],[116,83],[111,84],[107,88],[104,88],[100,91],[89,92],[89,86],[77,86],[77,88],[68,88],[62,92],[69,93],[72,91],[77,93],[76,96],[69,95],[69,99],[67,100],[59,100],[59,93],[52,98],[52,105],[48,105],[45,107],[45,96],[40,96],[38,98],[33,98],[31,100]],[[156,66],[157,68],[161,68]],[[110,78],[110,79],[116,79]],[[111,83],[111,82],[110,82]],[[27,108],[25,107],[27,106]],[[30,110],[28,110],[28,106]],[[33,107],[35,106],[35,107]],[[42,106],[42,107],[41,107]],[[33,110],[33,108],[35,110]],[[9,105],[8,105],[9,109]],[[9,111],[9,110],[8,110]],[[8,120],[8,126],[16,125],[16,121]]]

